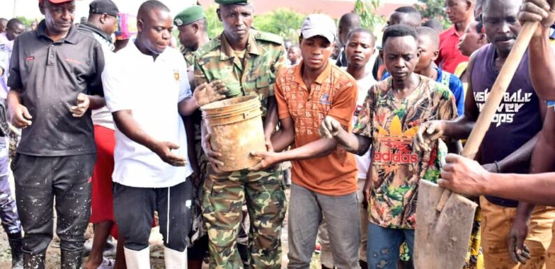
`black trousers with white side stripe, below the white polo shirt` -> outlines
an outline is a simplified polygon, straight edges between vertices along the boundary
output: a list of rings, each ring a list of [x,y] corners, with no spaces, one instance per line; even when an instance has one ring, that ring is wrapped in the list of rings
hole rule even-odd
[[[178,252],[186,249],[192,222],[191,180],[169,188],[128,187],[114,182],[113,188],[118,234],[124,237],[127,249],[140,251],[149,246],[154,211],[158,212],[164,246]]]

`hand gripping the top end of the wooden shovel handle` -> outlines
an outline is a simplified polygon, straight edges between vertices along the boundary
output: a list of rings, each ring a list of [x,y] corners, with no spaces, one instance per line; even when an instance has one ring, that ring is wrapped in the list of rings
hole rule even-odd
[[[519,20],[521,24],[540,22],[540,27],[535,32],[535,36],[540,36],[555,22],[555,1],[525,0],[520,6]]]

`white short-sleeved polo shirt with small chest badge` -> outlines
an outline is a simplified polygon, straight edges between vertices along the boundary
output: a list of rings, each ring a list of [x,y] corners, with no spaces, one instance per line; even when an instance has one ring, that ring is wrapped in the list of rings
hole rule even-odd
[[[179,145],[172,152],[190,163],[185,127],[177,110],[177,103],[191,96],[183,55],[168,47],[154,61],[129,42],[112,60],[102,73],[110,112],[131,110],[143,131],[156,140]],[[172,187],[193,173],[189,164],[174,167],[163,162],[117,128],[114,162],[113,182],[129,187]]]

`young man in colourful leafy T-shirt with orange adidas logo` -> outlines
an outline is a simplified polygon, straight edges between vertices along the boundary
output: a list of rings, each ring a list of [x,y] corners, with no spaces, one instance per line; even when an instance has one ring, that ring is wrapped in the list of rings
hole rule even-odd
[[[445,85],[414,73],[420,57],[415,29],[387,27],[383,56],[392,77],[371,87],[354,134],[332,117],[325,118],[320,132],[356,154],[372,145],[364,187],[370,204],[367,260],[369,268],[393,269],[402,242],[413,251],[418,182],[433,174],[428,171],[438,172],[434,154],[411,149],[413,137],[422,122],[457,117],[457,106]]]

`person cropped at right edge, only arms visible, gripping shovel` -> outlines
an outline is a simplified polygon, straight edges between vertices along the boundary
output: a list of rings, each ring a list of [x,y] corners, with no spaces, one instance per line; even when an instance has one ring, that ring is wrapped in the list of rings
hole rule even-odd
[[[537,31],[529,43],[530,79],[535,92],[545,100],[555,100],[555,63],[554,52],[549,41],[550,29],[555,22],[554,1],[527,0],[521,6],[519,20],[540,22]],[[549,102],[548,102],[549,103]],[[555,170],[555,110],[549,108],[545,117],[542,133],[535,146],[531,173],[545,173]],[[447,158],[447,166],[442,174],[440,184],[455,191],[471,195],[495,195],[503,198],[527,201],[538,205],[553,205],[552,190],[554,176],[542,175],[503,175],[487,173],[478,163],[452,156]],[[471,168],[472,170],[468,170]],[[471,172],[472,171],[472,172]],[[464,174],[461,174],[463,173]],[[477,181],[474,181],[477,180]],[[461,185],[464,184],[464,185]],[[515,258],[522,259],[524,242],[519,240],[509,252]],[[526,257],[524,257],[526,258]],[[552,241],[547,251],[547,268],[555,266],[555,244]]]

